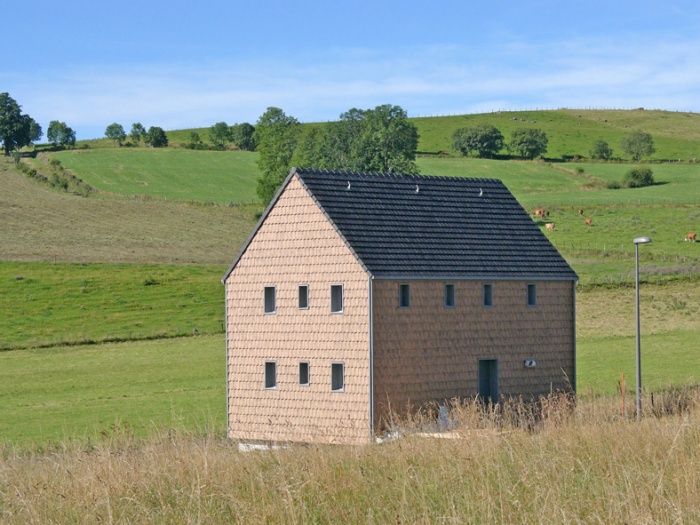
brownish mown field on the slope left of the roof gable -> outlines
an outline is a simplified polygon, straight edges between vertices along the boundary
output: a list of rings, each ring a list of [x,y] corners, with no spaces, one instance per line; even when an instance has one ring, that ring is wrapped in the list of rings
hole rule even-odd
[[[84,198],[27,179],[0,157],[0,260],[229,264],[259,206]]]

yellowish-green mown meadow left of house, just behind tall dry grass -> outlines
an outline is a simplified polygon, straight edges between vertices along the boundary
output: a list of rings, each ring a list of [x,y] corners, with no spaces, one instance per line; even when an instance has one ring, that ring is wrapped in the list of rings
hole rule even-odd
[[[0,352],[0,442],[221,429],[224,356],[223,335]]]

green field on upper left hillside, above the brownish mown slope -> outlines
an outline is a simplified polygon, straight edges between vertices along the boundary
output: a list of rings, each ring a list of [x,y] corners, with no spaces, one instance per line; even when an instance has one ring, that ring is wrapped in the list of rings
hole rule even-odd
[[[111,148],[52,153],[51,158],[101,191],[123,195],[255,203],[257,153],[171,148]],[[37,162],[40,162],[37,159]]]

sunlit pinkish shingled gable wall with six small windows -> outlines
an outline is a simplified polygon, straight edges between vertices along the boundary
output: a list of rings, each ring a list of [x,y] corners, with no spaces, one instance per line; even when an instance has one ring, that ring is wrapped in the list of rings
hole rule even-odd
[[[297,308],[309,285],[309,309]],[[330,286],[344,285],[344,313],[330,313]],[[277,312],[264,314],[264,287]],[[226,281],[229,437],[367,443],[368,277],[297,177],[290,180]],[[277,388],[264,363],[277,362]],[[310,385],[298,383],[299,362]],[[331,363],[345,365],[345,391],[331,392]]]

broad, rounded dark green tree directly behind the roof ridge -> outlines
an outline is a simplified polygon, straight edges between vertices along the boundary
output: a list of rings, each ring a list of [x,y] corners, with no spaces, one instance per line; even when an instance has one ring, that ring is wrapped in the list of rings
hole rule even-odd
[[[399,106],[353,108],[338,122],[310,128],[295,163],[321,169],[418,173],[418,130]]]

